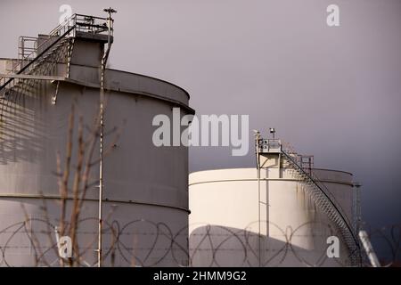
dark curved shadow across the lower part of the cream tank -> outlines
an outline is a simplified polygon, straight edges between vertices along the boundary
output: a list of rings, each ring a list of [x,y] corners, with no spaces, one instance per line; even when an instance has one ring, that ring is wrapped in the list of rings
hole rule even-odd
[[[276,227],[269,223],[270,228]],[[300,227],[299,227],[300,228]],[[299,229],[298,228],[298,229]],[[285,229],[284,229],[285,230]],[[189,238],[189,259],[194,267],[344,266],[340,258],[329,258],[327,244],[300,248],[291,233],[276,228],[275,238],[243,229],[219,225],[197,227]],[[282,235],[281,235],[282,233]],[[314,237],[315,239],[315,237]],[[325,242],[326,237],[323,237]],[[295,240],[294,240],[295,241]],[[299,241],[299,240],[297,240]]]

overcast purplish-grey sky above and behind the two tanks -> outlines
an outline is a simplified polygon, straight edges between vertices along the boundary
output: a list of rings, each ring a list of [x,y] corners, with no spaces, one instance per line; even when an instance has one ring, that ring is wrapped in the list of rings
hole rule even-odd
[[[352,172],[364,220],[401,222],[401,1],[135,0],[0,2],[1,57],[18,36],[48,32],[61,4],[102,15],[112,6],[114,69],[184,87],[198,114],[250,114],[250,129]],[[326,7],[340,6],[340,27]],[[191,171],[254,167],[250,154],[192,148]]]

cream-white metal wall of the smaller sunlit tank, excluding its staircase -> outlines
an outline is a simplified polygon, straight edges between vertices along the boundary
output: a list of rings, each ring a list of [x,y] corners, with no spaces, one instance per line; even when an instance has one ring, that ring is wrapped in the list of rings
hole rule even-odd
[[[291,169],[283,169],[282,178],[269,170],[261,172],[261,200],[266,206],[260,217],[260,244],[256,168],[190,175],[192,265],[348,265],[348,250],[342,241],[340,258],[325,255],[327,238],[339,232],[308,198]],[[352,175],[324,169],[315,172],[351,218]]]

